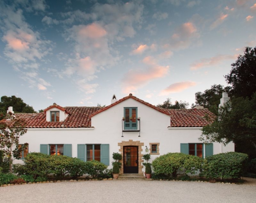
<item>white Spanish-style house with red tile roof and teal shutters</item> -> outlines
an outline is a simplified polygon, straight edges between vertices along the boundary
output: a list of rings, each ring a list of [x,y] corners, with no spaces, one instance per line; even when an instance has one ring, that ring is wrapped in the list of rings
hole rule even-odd
[[[221,101],[228,100],[224,97]],[[123,156],[120,173],[142,175],[143,154],[150,153],[151,162],[169,152],[206,157],[234,151],[233,143],[205,145],[198,141],[202,127],[214,118],[208,109],[158,108],[132,94],[120,100],[114,95],[106,107],[61,107],[54,103],[41,113],[15,115],[26,120],[28,129],[19,140],[29,144],[22,158],[28,152],[41,152],[98,160],[112,168],[112,153],[119,152]]]

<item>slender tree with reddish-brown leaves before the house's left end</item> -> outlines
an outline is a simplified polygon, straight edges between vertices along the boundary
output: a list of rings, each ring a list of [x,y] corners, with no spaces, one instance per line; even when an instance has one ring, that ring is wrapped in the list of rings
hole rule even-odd
[[[19,137],[27,132],[25,122],[22,119],[15,118],[12,114],[6,114],[4,120],[0,122],[0,149],[5,157],[8,158],[10,172],[12,173],[13,159],[19,159],[20,153],[28,143],[19,147]],[[13,150],[15,147],[15,150]]]

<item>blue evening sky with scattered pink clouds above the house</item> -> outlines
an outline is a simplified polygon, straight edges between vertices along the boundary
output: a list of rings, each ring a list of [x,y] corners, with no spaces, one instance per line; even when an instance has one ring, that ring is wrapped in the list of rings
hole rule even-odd
[[[0,96],[38,111],[195,103],[256,46],[255,0],[0,0]],[[189,105],[189,106],[190,106]]]

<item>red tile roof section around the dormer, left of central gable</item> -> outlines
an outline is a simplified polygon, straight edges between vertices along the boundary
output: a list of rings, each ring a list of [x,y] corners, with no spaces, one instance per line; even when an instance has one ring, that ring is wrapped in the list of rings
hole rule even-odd
[[[91,128],[89,115],[98,111],[100,107],[64,107],[69,115],[64,121],[46,121],[46,112],[41,113],[17,113],[15,116],[25,119],[26,128]]]

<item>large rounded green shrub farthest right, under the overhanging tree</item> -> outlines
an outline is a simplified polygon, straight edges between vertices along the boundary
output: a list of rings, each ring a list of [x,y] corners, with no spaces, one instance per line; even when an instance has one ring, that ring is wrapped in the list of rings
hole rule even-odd
[[[214,178],[240,178],[245,172],[247,154],[228,152],[216,154],[206,158],[202,176]]]

